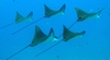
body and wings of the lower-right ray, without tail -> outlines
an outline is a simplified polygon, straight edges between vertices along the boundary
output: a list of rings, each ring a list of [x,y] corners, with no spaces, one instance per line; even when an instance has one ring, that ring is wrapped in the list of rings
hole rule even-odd
[[[81,33],[74,33],[72,31],[69,31],[68,28],[66,28],[66,26],[64,25],[64,33],[63,33],[63,37],[64,37],[64,41],[68,41],[69,39],[76,38],[76,37],[81,37],[85,35],[85,31],[82,31]]]

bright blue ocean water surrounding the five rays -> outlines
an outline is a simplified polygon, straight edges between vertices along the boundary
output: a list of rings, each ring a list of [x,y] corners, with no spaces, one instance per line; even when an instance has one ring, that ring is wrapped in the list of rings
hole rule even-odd
[[[110,60],[109,0],[14,0],[14,2],[13,0],[0,0],[0,26],[13,23],[16,11],[23,16],[33,11],[33,21],[35,21],[44,16],[44,4],[53,10],[58,10],[64,3],[66,4],[64,15],[43,19],[15,35],[12,35],[12,33],[31,22],[13,24],[0,29],[0,60],[6,60],[30,45],[34,37],[35,25],[45,34],[48,34],[52,27],[55,35],[59,36],[63,33],[63,25],[69,27],[77,20],[75,8],[80,8],[86,12],[106,9],[101,12],[99,19],[86,20],[70,28],[73,32],[86,31],[84,37],[63,41],[37,57],[35,55],[57,41],[29,47],[9,60]],[[59,40],[62,40],[62,37]]]

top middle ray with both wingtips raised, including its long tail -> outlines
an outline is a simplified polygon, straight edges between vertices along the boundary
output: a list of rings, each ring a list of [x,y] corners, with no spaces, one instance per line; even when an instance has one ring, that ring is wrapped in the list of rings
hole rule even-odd
[[[34,24],[34,23],[41,21],[41,20],[44,19],[44,17],[51,17],[51,16],[54,16],[54,15],[56,15],[56,14],[64,14],[64,13],[65,13],[65,9],[66,9],[66,4],[63,4],[63,7],[62,7],[59,10],[57,10],[57,11],[54,11],[54,10],[50,9],[46,4],[44,4],[44,9],[45,9],[45,15],[44,15],[43,17],[41,17],[41,19],[38,19],[38,20],[36,20],[36,21],[34,21],[34,22],[32,22],[32,23],[25,25],[24,27],[22,27],[22,28],[18,29],[16,32],[12,33],[12,35],[14,35],[14,34],[16,34],[18,32],[20,32],[20,31],[26,28],[28,26],[30,26],[30,25],[32,25],[32,24]]]

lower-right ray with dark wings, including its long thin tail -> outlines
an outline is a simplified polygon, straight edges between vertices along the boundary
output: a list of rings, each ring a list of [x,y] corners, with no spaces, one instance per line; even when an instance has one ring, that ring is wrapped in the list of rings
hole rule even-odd
[[[70,27],[72,27],[72,26],[70,26]],[[55,45],[48,47],[47,49],[41,51],[40,53],[35,55],[35,57],[37,57],[37,56],[44,53],[45,51],[47,51],[47,50],[50,50],[51,48],[55,47],[56,45],[61,44],[62,41],[68,41],[69,39],[73,39],[73,38],[76,38],[76,37],[82,37],[82,36],[85,35],[85,33],[86,33],[86,31],[82,31],[82,32],[80,32],[80,33],[72,32],[72,31],[69,31],[70,27],[67,28],[67,27],[64,25],[64,32],[63,32],[63,34],[62,34],[62,35],[63,35],[63,39],[59,40],[58,43],[56,43]],[[59,35],[58,38],[59,38],[62,35]]]

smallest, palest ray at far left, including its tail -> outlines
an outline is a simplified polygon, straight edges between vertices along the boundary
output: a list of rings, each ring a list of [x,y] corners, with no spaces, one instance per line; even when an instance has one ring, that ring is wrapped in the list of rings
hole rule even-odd
[[[8,27],[8,26],[10,26],[12,24],[19,24],[21,22],[32,21],[32,16],[33,16],[33,12],[30,12],[26,17],[22,16],[19,12],[16,12],[15,22],[14,23],[10,23],[8,25],[4,25],[4,26],[0,27],[0,29],[4,28],[4,27]]]

